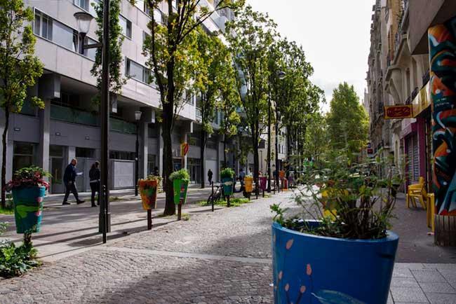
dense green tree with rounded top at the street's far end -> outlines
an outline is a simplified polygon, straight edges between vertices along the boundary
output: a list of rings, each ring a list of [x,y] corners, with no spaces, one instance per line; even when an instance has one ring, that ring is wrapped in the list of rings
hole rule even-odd
[[[328,113],[328,132],[332,148],[359,153],[368,140],[369,120],[353,85],[340,83],[333,91]]]

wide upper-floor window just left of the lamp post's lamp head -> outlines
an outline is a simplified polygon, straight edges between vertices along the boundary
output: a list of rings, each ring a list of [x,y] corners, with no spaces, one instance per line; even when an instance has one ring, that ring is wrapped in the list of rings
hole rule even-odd
[[[77,50],[78,32],[40,11],[35,11],[34,34],[74,52]]]

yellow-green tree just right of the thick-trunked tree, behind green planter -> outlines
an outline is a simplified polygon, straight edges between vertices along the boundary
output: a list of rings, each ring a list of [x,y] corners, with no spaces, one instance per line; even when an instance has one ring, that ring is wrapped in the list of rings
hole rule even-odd
[[[221,123],[222,132],[231,134],[232,127],[228,123],[235,118],[232,112],[227,112],[236,103],[236,96],[233,96],[234,89],[234,69],[232,67],[232,56],[227,46],[215,34],[206,34],[203,29],[199,30],[197,46],[199,56],[194,75],[194,88],[196,95],[199,95],[199,102],[196,106],[201,111],[201,146],[200,163],[201,177],[204,177],[204,151],[208,140],[208,135],[213,134],[212,127],[215,118],[215,109],[222,107],[228,117]],[[222,105],[222,106],[220,106]],[[225,112],[226,111],[226,112]],[[236,115],[235,113],[234,115]],[[204,188],[204,178],[201,179],[201,188]]]

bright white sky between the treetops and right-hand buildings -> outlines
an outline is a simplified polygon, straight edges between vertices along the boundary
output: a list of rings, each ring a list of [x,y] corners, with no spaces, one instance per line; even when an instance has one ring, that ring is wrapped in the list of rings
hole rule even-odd
[[[370,24],[375,0],[247,0],[268,13],[281,36],[302,45],[314,67],[311,80],[325,91],[329,110],[334,88],[354,85],[360,101],[366,88]]]

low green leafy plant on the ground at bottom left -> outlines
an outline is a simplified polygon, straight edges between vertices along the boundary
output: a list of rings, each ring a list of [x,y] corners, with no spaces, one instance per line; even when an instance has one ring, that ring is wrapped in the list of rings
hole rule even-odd
[[[0,243],[0,277],[23,275],[28,270],[40,265],[36,261],[37,251],[31,244],[16,247],[13,242]]]

